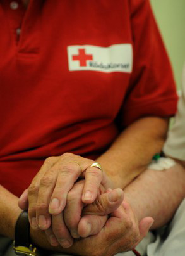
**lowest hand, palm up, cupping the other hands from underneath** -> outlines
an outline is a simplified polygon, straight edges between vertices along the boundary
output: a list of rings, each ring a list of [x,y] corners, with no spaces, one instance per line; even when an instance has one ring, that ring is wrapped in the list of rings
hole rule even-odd
[[[88,223],[93,224],[93,217],[90,215],[88,219],[82,218],[78,230],[81,222],[84,227]],[[129,202],[124,200],[121,206],[110,214],[110,218],[98,234],[75,240],[66,252],[81,256],[113,256],[116,253],[133,250],[146,236],[152,224],[152,217],[145,217],[139,223]]]

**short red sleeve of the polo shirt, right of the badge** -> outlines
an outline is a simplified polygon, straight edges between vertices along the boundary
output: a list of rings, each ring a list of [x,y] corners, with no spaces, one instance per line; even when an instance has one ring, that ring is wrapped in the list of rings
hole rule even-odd
[[[176,113],[177,94],[170,61],[148,0],[131,0],[133,72],[122,108],[123,126],[145,116]]]

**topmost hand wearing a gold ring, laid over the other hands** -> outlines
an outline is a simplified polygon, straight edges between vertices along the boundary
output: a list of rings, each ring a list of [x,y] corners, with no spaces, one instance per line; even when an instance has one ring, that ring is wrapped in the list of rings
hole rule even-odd
[[[68,193],[79,177],[85,178],[83,203],[95,201],[100,184],[103,184],[104,188],[112,188],[112,183],[105,173],[91,167],[93,163],[93,160],[72,153],[45,160],[28,191],[25,191],[19,200],[20,208],[28,207],[28,217],[33,229],[49,229],[51,214],[58,215],[64,210]]]

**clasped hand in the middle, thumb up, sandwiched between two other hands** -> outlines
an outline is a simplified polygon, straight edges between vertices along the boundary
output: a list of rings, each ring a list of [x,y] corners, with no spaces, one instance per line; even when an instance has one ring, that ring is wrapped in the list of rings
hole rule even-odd
[[[68,248],[73,244],[73,238],[97,234],[104,227],[108,214],[121,205],[123,191],[114,189],[111,193],[101,192],[102,194],[97,197],[95,202],[83,208],[85,204],[81,201],[81,193],[84,183],[85,181],[76,182],[68,193],[63,213],[52,215],[52,225],[45,231],[51,245],[60,244],[64,248]],[[105,189],[101,188],[101,190]]]

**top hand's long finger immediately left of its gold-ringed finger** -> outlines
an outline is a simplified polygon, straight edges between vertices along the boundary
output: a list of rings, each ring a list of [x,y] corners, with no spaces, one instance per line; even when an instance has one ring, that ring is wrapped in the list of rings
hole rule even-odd
[[[66,206],[68,192],[71,190],[71,188],[73,188],[75,181],[80,176],[81,169],[76,163],[69,162],[64,165],[58,163],[53,167],[53,170],[54,172],[57,170],[57,180],[55,188],[52,191],[51,201],[49,203],[49,213],[57,215],[62,212]],[[42,190],[45,191],[45,189]],[[41,200],[44,200],[44,198]]]

